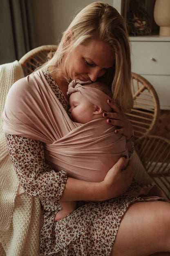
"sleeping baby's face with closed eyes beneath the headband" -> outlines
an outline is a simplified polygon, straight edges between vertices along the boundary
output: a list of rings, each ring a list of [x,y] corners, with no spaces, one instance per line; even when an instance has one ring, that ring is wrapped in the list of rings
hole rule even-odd
[[[94,119],[95,105],[87,101],[79,91],[70,95],[69,114],[76,123],[87,123]]]

